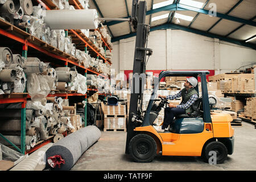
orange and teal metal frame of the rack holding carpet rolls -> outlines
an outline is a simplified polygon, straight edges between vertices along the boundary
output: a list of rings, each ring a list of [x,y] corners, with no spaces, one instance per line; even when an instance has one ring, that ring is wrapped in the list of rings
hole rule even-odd
[[[75,0],[73,0],[73,1],[75,2]],[[42,1],[38,1],[38,2],[42,3]],[[47,2],[47,1],[45,1],[45,2]],[[48,2],[51,2],[51,1],[48,1]],[[101,57],[105,61],[105,63],[111,64],[111,63],[109,63],[108,60],[105,59],[104,56],[102,56],[98,52],[98,50],[95,48],[95,46],[89,42],[89,39],[86,38],[86,36],[83,35],[79,30],[69,30],[69,31],[71,31],[75,36],[77,36],[77,38],[80,39],[81,42],[83,42],[85,44],[85,46],[84,46],[85,51],[93,52],[92,56],[97,55],[97,58]],[[2,38],[6,40],[6,41],[4,41],[4,40],[1,41],[2,42],[1,46],[9,47],[8,45],[5,44],[7,42],[11,42],[11,44],[14,43],[15,45],[19,44],[20,51],[21,51],[21,47],[22,47],[22,53],[20,55],[22,55],[24,57],[27,57],[28,48],[32,48],[34,51],[36,51],[36,53],[42,53],[43,55],[46,55],[48,57],[52,57],[53,59],[55,59],[55,61],[53,61],[53,63],[51,61],[51,63],[53,65],[56,64],[55,62],[56,62],[56,60],[58,60],[58,62],[59,62],[58,65],[63,65],[63,63],[64,63],[65,67],[67,67],[68,64],[76,65],[78,68],[84,70],[85,76],[88,72],[90,72],[92,74],[96,74],[97,76],[104,77],[105,79],[109,79],[109,77],[106,75],[103,75],[101,73],[93,71],[92,69],[85,68],[84,66],[80,65],[78,63],[78,60],[76,59],[76,57],[73,57],[63,51],[60,51],[56,47],[53,47],[53,46],[47,44],[46,42],[43,42],[43,40],[40,40],[40,39],[28,34],[26,31],[23,31],[20,28],[13,26],[13,24],[7,23],[1,19],[0,19],[0,36],[2,36]],[[102,38],[102,40],[103,40],[103,38]],[[103,40],[103,42],[104,42],[104,40]],[[105,51],[106,51],[107,47],[108,47],[108,49],[110,49],[108,44],[105,43]],[[18,49],[16,48],[14,51],[20,52]],[[13,49],[12,49],[12,51],[13,51]],[[110,51],[111,51],[111,49],[110,49]],[[38,56],[38,57],[40,58],[40,56]],[[89,91],[98,92],[98,89],[88,88],[87,90],[88,90],[88,92]],[[108,94],[108,93],[101,93],[101,94],[105,95],[105,98],[106,98],[106,94]],[[36,145],[31,150],[26,151],[26,143],[25,143],[25,140],[26,140],[26,103],[27,103],[27,99],[30,98],[30,96],[28,95],[28,93],[4,94],[4,95],[7,95],[7,97],[0,98],[0,104],[10,104],[10,103],[17,103],[17,102],[22,103],[22,118],[21,118],[22,123],[21,123],[21,135],[20,135],[20,140],[21,140],[20,148],[15,146],[15,144],[13,144],[10,140],[3,137],[2,134],[0,134],[0,137],[3,137],[5,140],[7,140],[7,142],[9,142],[11,144],[11,146],[13,146],[16,150],[18,150],[22,154],[30,154],[31,152],[34,152],[38,148],[46,145],[47,143],[52,142],[53,138],[49,138],[48,140]],[[11,98],[11,96],[13,96],[13,95],[19,95],[19,96],[15,97],[15,98]],[[56,93],[56,94],[49,94],[47,97],[55,97],[55,96],[64,97],[66,99],[68,97],[72,97],[72,96],[82,96],[82,97],[85,97],[85,101],[87,100],[87,93],[86,94]],[[85,105],[85,126],[86,126],[86,105]],[[67,135],[67,132],[64,133],[64,136],[66,136],[66,135]]]

